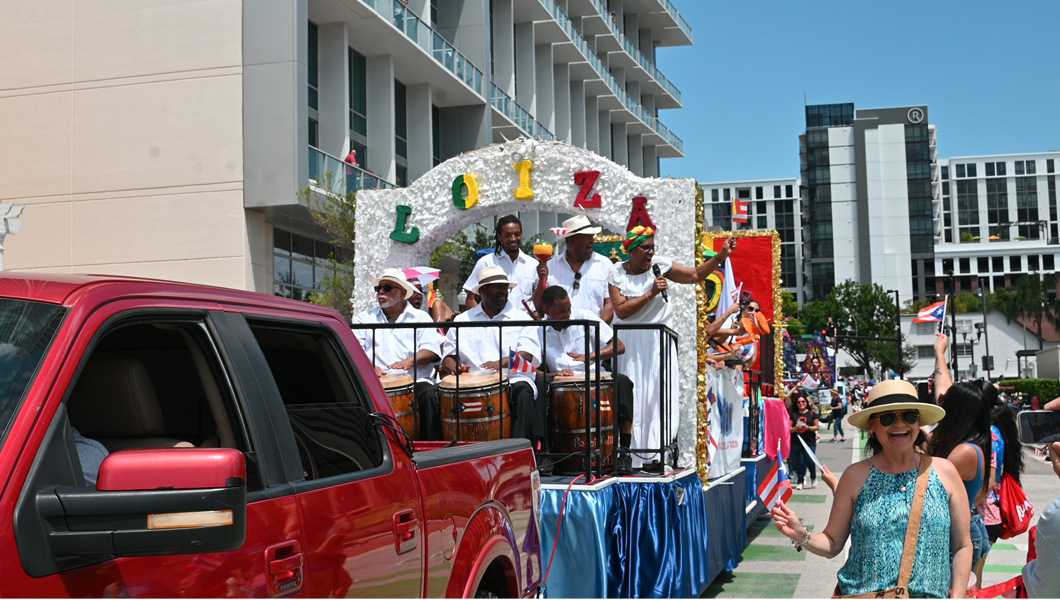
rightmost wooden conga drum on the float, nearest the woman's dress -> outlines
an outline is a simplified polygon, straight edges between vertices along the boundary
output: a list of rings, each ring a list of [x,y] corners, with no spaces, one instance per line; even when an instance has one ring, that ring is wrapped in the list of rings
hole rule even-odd
[[[615,382],[611,375],[600,376],[600,395],[597,396],[596,376],[589,377],[588,393],[585,375],[556,376],[548,388],[548,441],[552,454],[573,455],[556,463],[561,474],[585,473],[586,441],[591,449],[597,449],[597,417],[600,418],[599,466],[610,471],[615,463],[615,412],[613,399]],[[590,402],[588,423],[585,422],[585,402]],[[586,440],[586,426],[588,439]],[[599,459],[593,459],[594,467]]]

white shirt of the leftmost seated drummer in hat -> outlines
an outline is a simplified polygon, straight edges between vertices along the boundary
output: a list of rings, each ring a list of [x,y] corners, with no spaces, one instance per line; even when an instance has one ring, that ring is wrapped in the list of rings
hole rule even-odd
[[[383,308],[376,306],[370,311],[365,311],[364,313],[358,313],[353,317],[353,324],[358,323],[387,323],[387,316],[383,313]],[[416,343],[416,352],[421,350],[429,350],[439,356],[442,356],[442,342],[444,338],[440,333],[438,333],[437,325],[430,319],[430,317],[419,308],[413,308],[411,304],[407,301],[405,302],[405,311],[401,315],[398,315],[398,320],[395,323],[430,323],[430,327],[420,328],[420,329],[387,329],[381,328],[374,330],[375,335],[375,354],[372,355],[372,334],[373,330],[369,329],[358,329],[353,328],[353,335],[356,336],[357,341],[360,342],[360,347],[365,349],[365,354],[368,355],[369,360],[375,361],[375,366],[386,370],[387,365],[393,365],[399,360],[404,360],[412,356],[413,338]],[[414,332],[414,333],[413,333]],[[409,374],[411,374],[417,382],[428,382],[434,383],[435,381],[435,365],[438,363],[431,363],[429,365],[414,366]]]

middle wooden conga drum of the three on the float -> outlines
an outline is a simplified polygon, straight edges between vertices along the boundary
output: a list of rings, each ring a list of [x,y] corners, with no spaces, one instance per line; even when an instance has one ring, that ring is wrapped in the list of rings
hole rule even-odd
[[[512,437],[508,377],[492,371],[448,375],[439,386],[442,438],[448,441],[485,442]]]

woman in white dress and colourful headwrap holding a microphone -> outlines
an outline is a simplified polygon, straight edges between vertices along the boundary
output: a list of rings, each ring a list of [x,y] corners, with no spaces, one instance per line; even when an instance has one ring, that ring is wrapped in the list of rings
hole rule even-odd
[[[672,308],[668,301],[659,298],[669,282],[699,283],[712,273],[736,249],[736,239],[729,237],[721,251],[695,268],[682,266],[666,257],[655,255],[655,232],[651,227],[635,227],[626,233],[622,253],[628,261],[612,266],[607,275],[607,292],[615,307],[613,324],[658,323],[672,327]],[[653,275],[658,266],[659,276]],[[621,330],[616,335],[625,345],[626,352],[618,357],[619,373],[633,380],[633,444],[634,448],[657,448],[664,445],[659,433],[661,414],[660,396],[662,389],[662,352],[659,348],[659,332],[654,329]],[[694,342],[687,341],[687,342]],[[666,444],[677,435],[677,352],[667,342],[666,367],[667,412]],[[650,456],[634,454],[633,466],[649,462]],[[654,462],[654,461],[652,461]]]

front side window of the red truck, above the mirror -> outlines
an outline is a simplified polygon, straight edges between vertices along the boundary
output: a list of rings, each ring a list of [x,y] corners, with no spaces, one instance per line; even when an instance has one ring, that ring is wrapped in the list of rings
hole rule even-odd
[[[199,317],[137,315],[107,328],[84,359],[67,407],[75,437],[110,453],[238,448],[247,458],[248,491],[261,489],[257,455]]]

